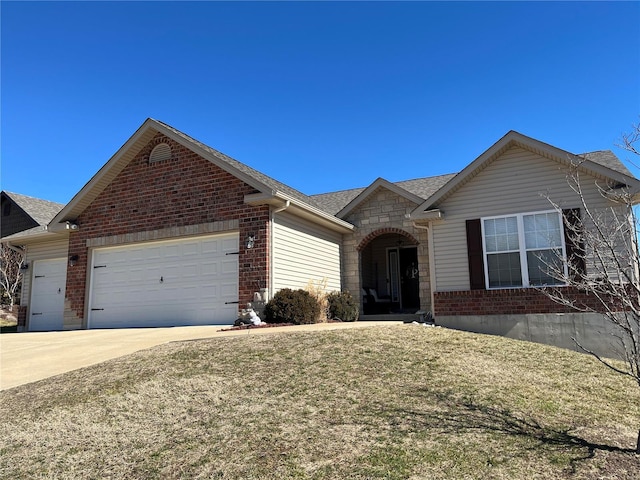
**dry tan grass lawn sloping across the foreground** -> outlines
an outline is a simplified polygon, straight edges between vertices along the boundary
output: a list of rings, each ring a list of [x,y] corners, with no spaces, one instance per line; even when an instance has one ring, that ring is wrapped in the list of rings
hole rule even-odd
[[[632,479],[638,393],[438,328],[175,343],[1,392],[0,476]]]

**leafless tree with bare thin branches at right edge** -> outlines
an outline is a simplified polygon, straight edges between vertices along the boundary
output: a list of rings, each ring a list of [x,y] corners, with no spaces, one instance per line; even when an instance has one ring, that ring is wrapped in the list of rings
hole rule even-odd
[[[622,146],[640,155],[636,147],[639,140],[640,124],[623,136]],[[575,311],[604,317],[622,362],[604,357],[576,337],[574,342],[614,372],[631,377],[640,387],[640,256],[634,210],[638,192],[622,183],[597,185],[609,206],[594,207],[587,200],[587,180],[581,178],[579,165],[572,166],[567,181],[580,199],[579,210],[562,210],[548,198],[563,215],[567,261],[548,262],[547,268],[565,287],[542,291]],[[640,454],[640,431],[636,453]]]

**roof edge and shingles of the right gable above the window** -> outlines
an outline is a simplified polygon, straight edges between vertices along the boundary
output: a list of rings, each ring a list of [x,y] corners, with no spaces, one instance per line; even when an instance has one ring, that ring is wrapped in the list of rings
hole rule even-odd
[[[459,188],[491,164],[491,162],[514,146],[524,148],[525,150],[534,152],[545,158],[555,160],[559,163],[576,165],[580,169],[587,171],[596,177],[615,180],[616,182],[623,182],[624,184],[629,185],[634,193],[640,192],[640,180],[635,178],[618,159],[618,157],[609,150],[575,155],[567,152],[566,150],[559,149],[511,130],[473,162],[467,165],[441,189],[427,198],[424,203],[412,212],[412,218],[429,218],[430,214],[427,213],[429,210],[437,208],[439,202],[442,202],[455,193]]]

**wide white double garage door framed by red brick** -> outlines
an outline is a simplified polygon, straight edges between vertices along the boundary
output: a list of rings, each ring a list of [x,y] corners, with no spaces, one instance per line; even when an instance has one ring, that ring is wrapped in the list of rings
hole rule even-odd
[[[238,234],[96,249],[89,328],[230,324]]]

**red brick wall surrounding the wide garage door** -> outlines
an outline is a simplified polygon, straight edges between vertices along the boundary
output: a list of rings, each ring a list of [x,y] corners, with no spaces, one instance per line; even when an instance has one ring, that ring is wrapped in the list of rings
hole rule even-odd
[[[149,153],[168,143],[172,156],[149,163]],[[182,145],[158,134],[77,218],[80,229],[69,238],[77,264],[67,272],[68,308],[84,318],[87,241],[136,232],[236,220],[240,236],[240,307],[269,278],[269,207],[250,206],[244,196],[256,190]],[[244,248],[248,234],[254,248]]]

